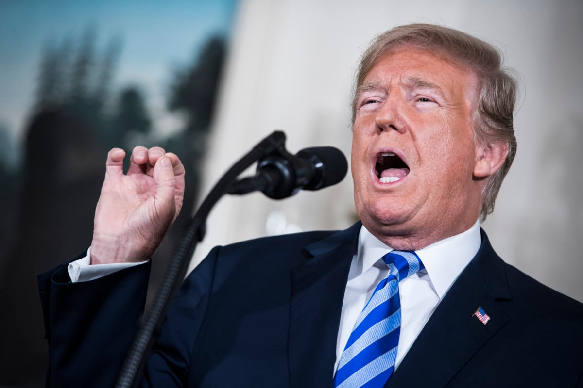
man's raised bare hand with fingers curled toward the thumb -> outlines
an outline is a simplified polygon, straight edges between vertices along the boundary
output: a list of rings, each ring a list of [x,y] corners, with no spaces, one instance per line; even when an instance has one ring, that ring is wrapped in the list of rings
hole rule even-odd
[[[149,258],[182,207],[184,166],[163,148],[136,147],[127,175],[125,151],[107,155],[106,177],[95,210],[91,264]]]

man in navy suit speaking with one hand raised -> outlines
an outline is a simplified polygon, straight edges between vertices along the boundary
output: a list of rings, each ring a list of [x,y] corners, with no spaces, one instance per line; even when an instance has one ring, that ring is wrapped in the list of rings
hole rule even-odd
[[[489,44],[427,24],[380,35],[354,94],[361,223],[213,249],[142,384],[583,386],[583,306],[505,264],[479,229],[514,158],[514,102]],[[127,176],[123,157],[108,155],[90,252],[39,277],[49,385],[112,384],[145,297],[148,265],[128,263],[180,211],[176,155],[136,148]],[[117,262],[129,268],[101,276]]]

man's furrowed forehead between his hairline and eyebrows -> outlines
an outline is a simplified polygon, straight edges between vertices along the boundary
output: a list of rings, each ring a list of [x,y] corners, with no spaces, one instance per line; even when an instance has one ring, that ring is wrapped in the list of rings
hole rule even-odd
[[[477,77],[468,67],[436,52],[415,47],[399,47],[381,56],[364,77],[357,92],[398,84],[410,88],[433,89],[444,95],[475,95]]]

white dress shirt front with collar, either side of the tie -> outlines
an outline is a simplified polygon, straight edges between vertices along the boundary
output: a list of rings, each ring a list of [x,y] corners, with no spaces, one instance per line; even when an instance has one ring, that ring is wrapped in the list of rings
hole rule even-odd
[[[451,284],[476,255],[481,244],[480,225],[476,221],[466,232],[415,251],[425,269],[399,282],[401,333],[395,369],[399,367],[423,326]],[[364,226],[360,229],[358,250],[350,265],[342,302],[334,373],[356,319],[377,284],[388,276],[389,270],[382,262],[382,257],[391,251],[394,249],[381,243]]]

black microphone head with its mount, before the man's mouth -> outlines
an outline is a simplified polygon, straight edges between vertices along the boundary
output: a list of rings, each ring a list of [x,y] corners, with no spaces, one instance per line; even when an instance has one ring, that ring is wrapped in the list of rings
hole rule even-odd
[[[300,188],[319,190],[339,183],[346,176],[348,163],[338,148],[305,148],[296,155],[280,149],[261,159],[254,176],[236,181],[229,194],[262,191],[280,200],[296,194]]]

